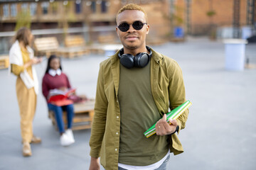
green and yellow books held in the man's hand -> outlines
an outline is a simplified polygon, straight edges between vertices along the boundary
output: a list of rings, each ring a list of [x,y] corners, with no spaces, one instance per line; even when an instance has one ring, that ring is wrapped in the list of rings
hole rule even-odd
[[[189,106],[191,106],[191,105],[192,105],[191,101],[188,100],[185,103],[182,103],[177,108],[174,108],[174,110],[172,110],[171,112],[167,113],[166,114],[167,123],[169,123],[171,125],[171,123],[169,122],[169,119],[176,120],[178,118],[178,116],[180,116],[184,111],[186,111],[186,109],[189,108]],[[151,128],[146,130],[146,132],[144,132],[144,135],[146,137],[150,137],[151,135],[154,135],[155,133],[156,133],[156,123],[154,125],[152,125]]]

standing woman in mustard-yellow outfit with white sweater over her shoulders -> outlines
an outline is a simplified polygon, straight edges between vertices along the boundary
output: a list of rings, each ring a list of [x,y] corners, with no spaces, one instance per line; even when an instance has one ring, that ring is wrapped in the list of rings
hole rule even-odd
[[[14,44],[9,52],[9,72],[17,76],[16,95],[21,116],[21,137],[23,156],[32,155],[30,143],[40,143],[41,138],[33,135],[33,118],[36,112],[38,78],[34,64],[42,59],[34,57],[31,43],[33,35],[28,28],[21,28],[14,36]]]

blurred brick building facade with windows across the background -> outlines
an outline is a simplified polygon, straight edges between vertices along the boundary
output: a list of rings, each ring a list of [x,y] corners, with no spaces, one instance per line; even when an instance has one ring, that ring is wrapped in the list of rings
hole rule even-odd
[[[0,0],[0,43],[24,25],[38,30],[38,37],[48,33],[60,41],[63,33],[80,33],[87,42],[112,34],[118,41],[116,13],[129,3],[145,8],[150,25],[147,41],[152,43],[175,37],[176,28],[182,28],[182,36],[209,35],[234,23],[240,28],[256,23],[255,0]],[[1,46],[0,51],[6,48]]]

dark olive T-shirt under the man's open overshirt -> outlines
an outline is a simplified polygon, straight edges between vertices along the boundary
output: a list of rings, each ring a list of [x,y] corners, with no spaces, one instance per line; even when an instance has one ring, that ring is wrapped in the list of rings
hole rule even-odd
[[[144,136],[161,118],[150,86],[150,64],[127,69],[120,64],[118,100],[121,128],[118,162],[146,166],[159,162],[169,150],[168,136]]]

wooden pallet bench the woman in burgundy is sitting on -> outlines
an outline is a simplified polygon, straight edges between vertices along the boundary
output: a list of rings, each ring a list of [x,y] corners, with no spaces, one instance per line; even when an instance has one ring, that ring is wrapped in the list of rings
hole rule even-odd
[[[95,101],[85,101],[85,103],[75,103],[74,104],[74,118],[73,118],[73,130],[82,130],[91,128],[92,118],[94,115],[94,105]],[[55,120],[55,115],[53,111],[48,111],[48,117],[55,125],[55,129],[58,130],[57,123]],[[63,121],[65,126],[67,125],[67,113],[63,112]]]

